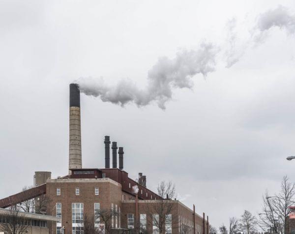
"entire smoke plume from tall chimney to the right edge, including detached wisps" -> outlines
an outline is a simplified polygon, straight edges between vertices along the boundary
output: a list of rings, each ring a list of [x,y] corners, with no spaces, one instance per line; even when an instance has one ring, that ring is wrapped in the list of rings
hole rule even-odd
[[[295,16],[286,7],[279,5],[259,15],[254,27],[246,34],[239,36],[237,29],[245,29],[245,25],[237,26],[237,20],[232,19],[227,24],[225,43],[213,45],[202,43],[198,50],[179,51],[175,58],[161,57],[148,71],[147,86],[138,88],[134,82],[122,79],[115,86],[104,83],[102,78],[80,78],[76,83],[86,95],[99,97],[104,102],[124,106],[135,103],[138,107],[156,102],[165,109],[167,101],[171,100],[175,88],[193,87],[192,78],[197,74],[206,76],[213,72],[216,65],[218,48],[222,48],[226,67],[230,68],[244,55],[249,48],[255,48],[264,42],[267,32],[273,27],[286,29],[289,34],[295,32]]]

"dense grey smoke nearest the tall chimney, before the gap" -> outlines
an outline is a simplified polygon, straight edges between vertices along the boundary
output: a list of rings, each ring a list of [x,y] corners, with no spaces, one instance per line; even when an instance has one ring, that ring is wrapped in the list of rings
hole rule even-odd
[[[192,78],[196,74],[206,76],[215,70],[218,49],[211,43],[202,43],[198,50],[182,50],[174,59],[159,58],[148,71],[146,88],[138,88],[128,79],[116,86],[108,86],[102,78],[80,78],[76,83],[86,95],[100,97],[104,102],[124,106],[135,103],[138,107],[156,102],[161,109],[172,98],[174,88],[192,88]]]

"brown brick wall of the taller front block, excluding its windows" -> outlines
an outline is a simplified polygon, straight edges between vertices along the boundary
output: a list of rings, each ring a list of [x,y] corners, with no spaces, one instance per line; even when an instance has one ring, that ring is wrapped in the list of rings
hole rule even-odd
[[[99,195],[94,194],[94,188],[99,188]],[[60,195],[57,195],[60,188]],[[79,195],[76,195],[79,188]],[[121,205],[121,185],[108,178],[105,179],[51,179],[47,181],[46,195],[50,199],[47,214],[56,216],[56,204],[61,203],[61,227],[65,233],[72,233],[72,203],[84,204],[84,215],[93,217],[94,203],[100,204],[100,209],[110,209],[111,203]],[[56,225],[49,224],[49,232],[56,233]]]

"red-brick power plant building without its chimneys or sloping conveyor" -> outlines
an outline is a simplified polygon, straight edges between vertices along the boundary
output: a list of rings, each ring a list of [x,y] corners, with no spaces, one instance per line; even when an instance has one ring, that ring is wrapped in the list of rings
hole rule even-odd
[[[205,216],[177,200],[159,197],[119,169],[75,169],[69,176],[47,179],[46,196],[51,201],[47,214],[61,218],[50,227],[57,234],[62,227],[64,233],[81,234],[85,220],[93,221],[101,233],[107,226],[111,233],[159,233],[154,223],[163,214],[168,215],[162,224],[167,234],[207,234]],[[169,212],[158,212],[166,204],[171,204]],[[97,211],[109,211],[109,223],[97,217]]]

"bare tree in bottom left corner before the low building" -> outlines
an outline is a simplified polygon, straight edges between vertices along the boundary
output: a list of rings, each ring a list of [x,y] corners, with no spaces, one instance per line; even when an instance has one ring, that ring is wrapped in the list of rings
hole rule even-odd
[[[16,205],[9,207],[2,217],[5,222],[0,225],[0,231],[5,234],[25,234],[28,226],[24,214],[22,214]]]

